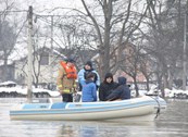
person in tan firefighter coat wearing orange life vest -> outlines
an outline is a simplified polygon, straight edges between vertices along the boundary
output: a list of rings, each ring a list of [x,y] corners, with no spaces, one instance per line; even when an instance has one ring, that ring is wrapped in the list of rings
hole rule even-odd
[[[57,84],[63,102],[73,102],[73,92],[76,88],[77,71],[75,61],[70,58],[60,62]]]

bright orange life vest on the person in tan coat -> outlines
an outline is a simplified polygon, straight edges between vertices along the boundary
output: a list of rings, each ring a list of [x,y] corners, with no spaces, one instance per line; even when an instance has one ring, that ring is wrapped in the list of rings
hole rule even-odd
[[[66,62],[61,61],[60,64],[63,66],[63,68],[65,70],[66,73],[66,77],[67,78],[77,78],[77,72],[76,72],[76,67],[75,65],[73,66],[67,66]]]

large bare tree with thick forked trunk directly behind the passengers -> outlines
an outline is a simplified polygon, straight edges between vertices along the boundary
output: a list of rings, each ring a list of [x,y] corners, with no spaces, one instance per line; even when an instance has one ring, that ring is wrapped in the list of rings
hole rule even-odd
[[[124,48],[123,43],[128,43],[129,38],[139,27],[148,8],[145,8],[142,13],[137,13],[131,11],[131,0],[97,0],[99,9],[103,13],[103,24],[101,24],[91,13],[88,3],[85,0],[82,0],[82,2],[97,32],[100,51],[100,74],[103,76],[108,71],[116,72],[125,60],[121,57]],[[134,20],[131,20],[133,17]]]

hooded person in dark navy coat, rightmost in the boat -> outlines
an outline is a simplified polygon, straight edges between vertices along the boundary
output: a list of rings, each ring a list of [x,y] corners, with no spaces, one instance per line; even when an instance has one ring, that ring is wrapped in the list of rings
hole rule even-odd
[[[118,87],[106,97],[106,100],[113,101],[117,99],[130,99],[130,90],[129,87],[126,85],[126,82],[127,79],[125,77],[118,77]]]

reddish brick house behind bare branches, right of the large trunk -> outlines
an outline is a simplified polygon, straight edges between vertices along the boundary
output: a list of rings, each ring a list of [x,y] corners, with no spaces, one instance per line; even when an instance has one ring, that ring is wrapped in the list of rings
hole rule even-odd
[[[115,49],[115,48],[114,48]],[[114,51],[110,57],[110,66],[112,67],[111,72],[114,73],[114,80],[117,82],[118,76],[125,76],[129,85],[134,85],[134,79],[129,74],[136,74],[136,82],[139,89],[147,89],[147,79],[142,72],[140,71],[140,64],[146,65],[146,70],[151,68],[147,60],[137,60],[136,54],[138,47],[130,42],[125,42],[122,45],[121,52],[118,50]],[[145,51],[141,51],[145,53]],[[117,55],[120,55],[120,61],[117,61]],[[99,54],[92,58],[93,61],[99,62]],[[101,77],[101,80],[103,77]]]

